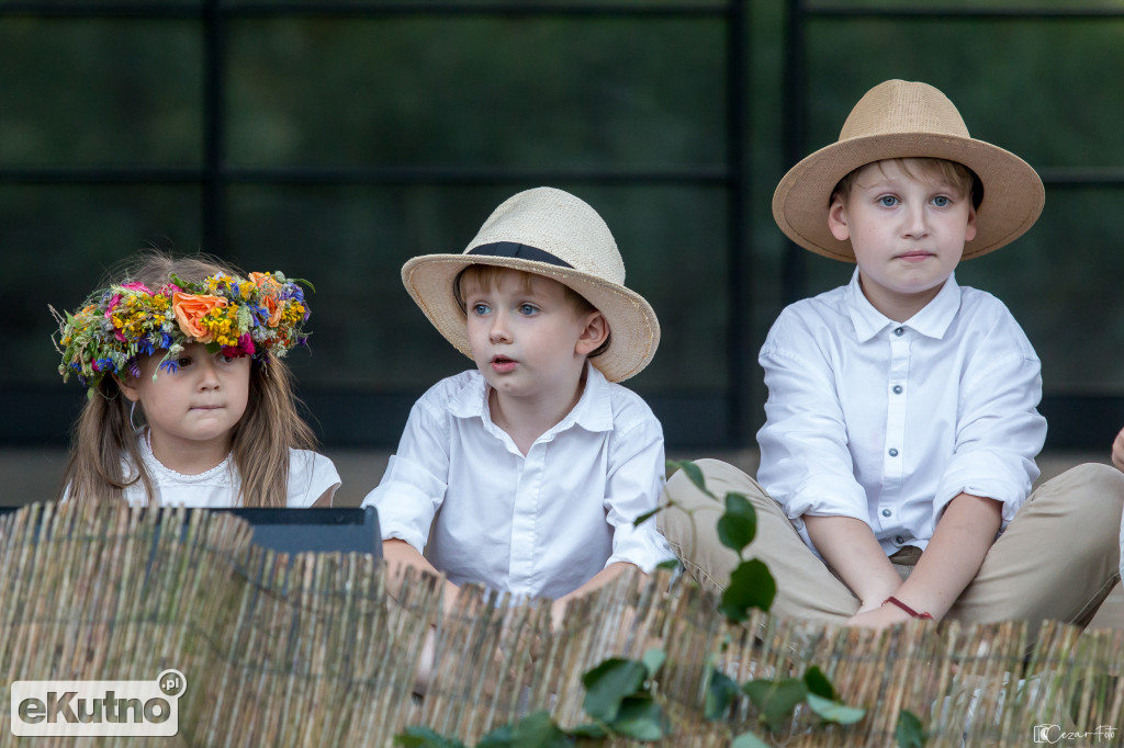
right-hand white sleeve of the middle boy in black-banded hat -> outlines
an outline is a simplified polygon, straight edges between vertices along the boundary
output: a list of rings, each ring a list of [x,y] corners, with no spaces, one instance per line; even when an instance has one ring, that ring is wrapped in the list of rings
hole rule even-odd
[[[605,511],[613,527],[613,555],[605,565],[635,564],[651,574],[674,554],[656,529],[655,518],[634,524],[659,504],[665,471],[663,428],[646,407],[643,410],[634,426],[610,439]]]

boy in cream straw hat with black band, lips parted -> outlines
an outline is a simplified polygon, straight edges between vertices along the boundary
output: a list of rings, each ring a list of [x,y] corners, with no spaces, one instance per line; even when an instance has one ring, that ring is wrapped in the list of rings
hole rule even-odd
[[[556,618],[628,566],[671,557],[654,522],[633,526],[660,496],[663,430],[617,382],[652,361],[660,325],[624,280],[601,217],[551,188],[506,200],[462,254],[402,266],[475,368],[417,401],[363,503],[388,560],[445,573],[446,605],[477,582],[554,599]]]

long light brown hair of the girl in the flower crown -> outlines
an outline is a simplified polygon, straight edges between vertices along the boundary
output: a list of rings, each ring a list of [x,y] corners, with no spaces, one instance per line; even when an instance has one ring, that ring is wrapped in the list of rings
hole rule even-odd
[[[206,255],[173,258],[146,252],[102,285],[124,277],[157,288],[166,283],[172,273],[187,282],[202,281],[216,273],[243,275]],[[60,496],[78,501],[124,499],[125,489],[139,481],[148,503],[153,503],[152,476],[140,459],[130,418],[132,405],[114,377],[101,380],[71,429],[70,459],[63,472]],[[140,418],[143,410],[136,409],[138,422],[144,420]],[[316,437],[298,410],[289,367],[279,358],[262,355],[251,362],[246,412],[232,431],[232,463],[242,476],[236,505],[287,504],[290,448],[316,449]],[[126,464],[132,466],[128,474]]]

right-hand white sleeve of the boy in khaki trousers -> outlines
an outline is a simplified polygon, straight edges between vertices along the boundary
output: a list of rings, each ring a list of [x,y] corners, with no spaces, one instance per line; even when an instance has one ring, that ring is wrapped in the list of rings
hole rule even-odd
[[[1046,421],[1039,414],[1041,365],[1022,330],[998,330],[989,355],[973,362],[962,378],[955,449],[934,496],[935,516],[961,493],[1003,502],[1003,524],[1030,495],[1039,476],[1034,457],[1042,449]],[[1001,346],[1001,347],[1000,347]],[[996,348],[999,348],[996,350]]]

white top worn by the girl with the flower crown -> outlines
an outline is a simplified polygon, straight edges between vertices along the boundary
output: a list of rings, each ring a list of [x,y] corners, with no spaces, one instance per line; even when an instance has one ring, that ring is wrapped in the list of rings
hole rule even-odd
[[[183,475],[165,467],[152,454],[146,432],[137,440],[140,459],[153,482],[154,500],[160,507],[221,508],[237,507],[242,478],[230,456],[199,475]],[[126,463],[125,475],[135,475]],[[306,449],[289,450],[289,490],[285,505],[289,508],[310,507],[332,487],[339,487],[339,474],[330,459]],[[135,505],[147,505],[148,495],[144,482],[137,481],[125,489],[125,500]]]

